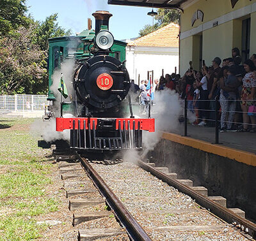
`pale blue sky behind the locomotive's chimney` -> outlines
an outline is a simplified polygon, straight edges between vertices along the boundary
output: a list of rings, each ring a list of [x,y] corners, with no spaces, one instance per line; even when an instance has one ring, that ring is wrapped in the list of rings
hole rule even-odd
[[[152,24],[152,17],[147,15],[150,8],[108,5],[108,0],[27,0],[26,3],[36,20],[45,20],[52,13],[58,13],[60,26],[71,29],[73,34],[87,29],[89,17],[94,26],[92,13],[96,10],[107,10],[113,14],[109,30],[116,40],[137,37],[145,24]]]

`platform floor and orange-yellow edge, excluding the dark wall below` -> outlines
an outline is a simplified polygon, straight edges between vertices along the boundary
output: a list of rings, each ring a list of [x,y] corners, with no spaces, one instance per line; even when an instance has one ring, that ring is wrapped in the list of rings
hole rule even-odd
[[[256,166],[256,133],[219,133],[221,144],[214,144],[215,128],[188,125],[188,136],[182,136],[183,126],[180,125],[172,132],[163,133],[162,137],[204,152]]]

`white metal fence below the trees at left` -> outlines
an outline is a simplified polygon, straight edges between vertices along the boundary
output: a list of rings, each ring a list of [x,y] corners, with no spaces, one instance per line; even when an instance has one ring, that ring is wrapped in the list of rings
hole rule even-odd
[[[48,105],[47,96],[33,94],[15,94],[0,96],[0,114],[44,113]]]

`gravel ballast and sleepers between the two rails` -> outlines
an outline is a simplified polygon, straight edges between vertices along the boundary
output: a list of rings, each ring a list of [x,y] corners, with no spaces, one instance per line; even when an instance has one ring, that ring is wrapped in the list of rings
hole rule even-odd
[[[152,240],[246,240],[186,194],[133,163],[91,163]]]

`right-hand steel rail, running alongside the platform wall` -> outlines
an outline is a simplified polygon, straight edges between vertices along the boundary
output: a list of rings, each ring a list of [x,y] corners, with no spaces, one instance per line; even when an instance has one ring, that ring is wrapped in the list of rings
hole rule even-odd
[[[244,219],[243,217],[240,217],[239,215],[236,215],[231,210],[228,210],[228,208],[222,207],[220,204],[210,200],[209,198],[196,193],[193,189],[191,189],[188,186],[185,186],[184,184],[181,184],[179,181],[172,179],[171,177],[168,177],[168,175],[165,175],[163,172],[159,172],[156,168],[148,165],[147,163],[144,163],[143,161],[138,160],[136,163],[138,166],[146,170],[147,172],[150,172],[152,175],[157,177],[158,179],[163,180],[170,186],[175,187],[178,189],[181,193],[187,194],[188,196],[191,196],[196,203],[201,205],[202,207],[209,209],[213,214],[217,215],[227,223],[234,223],[236,222],[236,226],[241,228],[241,226],[244,227],[244,230],[248,228],[248,233],[250,236],[252,236],[254,239],[256,238],[256,224],[252,223],[251,221]]]

